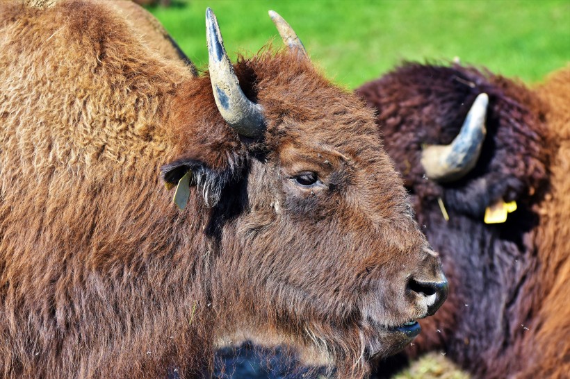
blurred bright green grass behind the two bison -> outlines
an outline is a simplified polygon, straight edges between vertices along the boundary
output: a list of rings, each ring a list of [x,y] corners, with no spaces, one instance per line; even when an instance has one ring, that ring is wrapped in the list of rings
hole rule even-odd
[[[272,39],[282,46],[267,15],[272,9],[327,77],[350,88],[402,60],[458,56],[526,83],[570,62],[570,0],[173,0],[168,8],[149,8],[198,68],[208,59],[207,6],[232,59]]]

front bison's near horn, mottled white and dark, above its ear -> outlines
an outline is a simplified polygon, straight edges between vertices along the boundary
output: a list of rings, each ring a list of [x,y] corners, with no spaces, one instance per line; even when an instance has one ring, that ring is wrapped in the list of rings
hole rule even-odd
[[[226,122],[239,134],[259,137],[265,129],[263,111],[259,104],[253,103],[243,94],[224,48],[218,20],[210,8],[206,9],[206,40],[215,105]]]

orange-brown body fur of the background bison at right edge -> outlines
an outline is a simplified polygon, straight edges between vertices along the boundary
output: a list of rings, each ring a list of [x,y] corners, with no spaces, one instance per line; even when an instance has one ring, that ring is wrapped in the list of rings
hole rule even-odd
[[[534,359],[521,378],[564,378],[570,373],[570,67],[551,75],[534,92],[548,107],[548,146],[553,153],[550,189],[536,207],[541,217],[536,241],[539,308],[533,321],[537,329],[521,353]]]

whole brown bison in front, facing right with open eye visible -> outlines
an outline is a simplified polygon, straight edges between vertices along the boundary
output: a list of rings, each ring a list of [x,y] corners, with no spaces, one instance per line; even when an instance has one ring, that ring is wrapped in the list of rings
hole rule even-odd
[[[344,378],[407,345],[447,282],[371,110],[294,44],[231,65],[211,10],[196,77],[111,4],[0,3],[3,376],[202,377],[253,339]]]

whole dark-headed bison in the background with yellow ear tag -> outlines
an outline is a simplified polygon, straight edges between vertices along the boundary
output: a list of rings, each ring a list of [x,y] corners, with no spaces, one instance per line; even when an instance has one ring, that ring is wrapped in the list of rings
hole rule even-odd
[[[570,69],[530,89],[469,67],[407,64],[357,94],[377,110],[452,288],[407,355],[439,350],[479,378],[567,378]],[[486,124],[462,128],[487,96]]]

